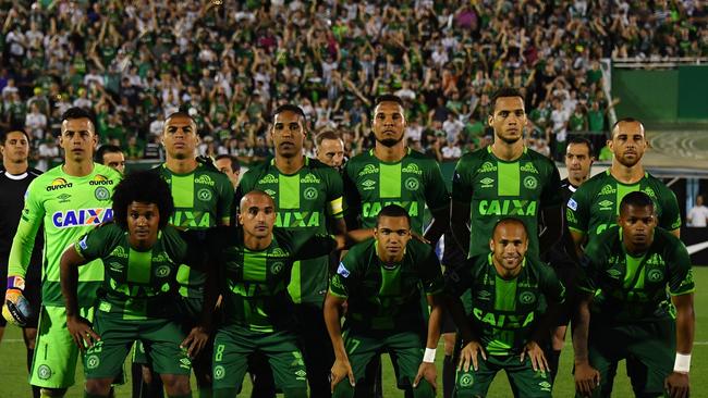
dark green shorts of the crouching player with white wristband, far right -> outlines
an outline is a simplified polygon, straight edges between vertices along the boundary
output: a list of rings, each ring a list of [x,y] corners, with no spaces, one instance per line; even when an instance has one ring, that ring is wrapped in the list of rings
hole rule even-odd
[[[672,319],[614,326],[590,321],[588,356],[593,368],[600,372],[600,388],[595,389],[595,396],[612,394],[618,362],[623,359],[635,395],[661,396],[675,353],[676,324]]]

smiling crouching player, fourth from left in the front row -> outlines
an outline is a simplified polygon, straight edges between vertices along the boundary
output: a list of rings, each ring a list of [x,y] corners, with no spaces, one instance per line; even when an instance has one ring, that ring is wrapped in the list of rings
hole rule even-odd
[[[489,248],[491,253],[473,257],[467,266],[448,274],[445,301],[463,339],[453,396],[485,397],[497,372],[504,370],[515,397],[551,397],[541,347],[565,288],[550,266],[526,256],[523,221],[499,221]],[[472,293],[471,319],[460,301],[465,289]]]

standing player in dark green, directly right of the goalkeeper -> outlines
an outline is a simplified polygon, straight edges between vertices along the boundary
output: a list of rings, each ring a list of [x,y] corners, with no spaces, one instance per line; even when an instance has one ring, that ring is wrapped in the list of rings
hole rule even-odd
[[[156,171],[170,185],[174,198],[174,213],[170,224],[187,229],[229,225],[233,185],[210,162],[196,159],[198,142],[197,125],[188,114],[176,112],[164,121],[162,144],[167,159]],[[181,285],[183,311],[191,319],[183,325],[186,332],[199,321],[205,281],[205,273],[180,266],[178,282]],[[193,361],[202,397],[211,396],[211,345],[206,347]]]

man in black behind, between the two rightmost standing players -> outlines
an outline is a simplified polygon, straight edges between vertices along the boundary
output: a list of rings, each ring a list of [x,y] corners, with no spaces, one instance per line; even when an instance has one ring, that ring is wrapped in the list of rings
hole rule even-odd
[[[593,166],[593,144],[583,137],[571,138],[565,149],[565,167],[567,169],[567,178],[561,181],[561,195],[563,196],[563,207],[567,203],[569,199],[577,190],[581,184],[585,183],[590,176],[590,167]],[[563,223],[565,224],[565,223]],[[552,351],[547,356],[548,364],[551,368],[551,380],[556,380],[558,373],[558,363],[565,341],[565,331],[567,323],[573,311],[575,298],[575,274],[576,274],[576,257],[575,246],[570,231],[564,227],[563,236],[560,245],[553,245],[548,251],[546,259],[548,264],[556,270],[559,279],[566,286],[567,299],[560,308],[560,318],[558,319],[558,327],[553,333],[551,346]]]

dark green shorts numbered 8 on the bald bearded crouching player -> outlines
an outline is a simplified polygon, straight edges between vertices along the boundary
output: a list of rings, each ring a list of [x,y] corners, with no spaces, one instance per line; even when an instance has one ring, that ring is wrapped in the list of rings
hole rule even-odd
[[[307,389],[307,372],[297,337],[292,332],[253,332],[224,325],[213,341],[213,389],[241,388],[248,368],[248,356],[263,352],[282,389]]]

